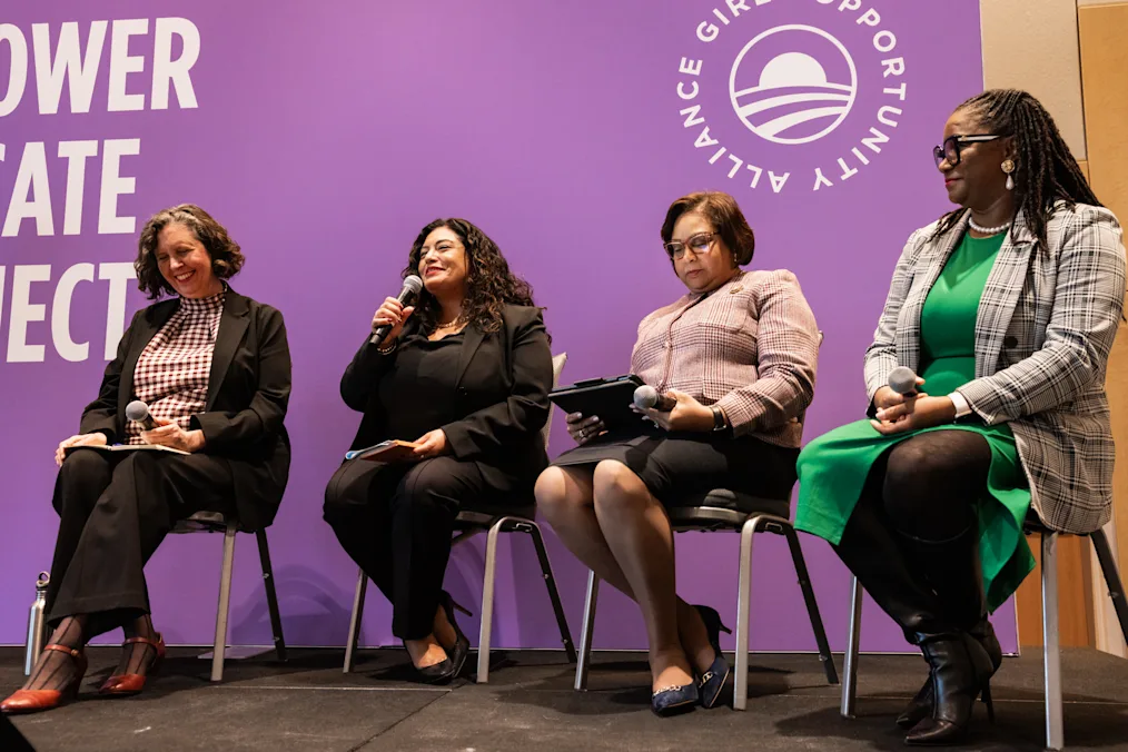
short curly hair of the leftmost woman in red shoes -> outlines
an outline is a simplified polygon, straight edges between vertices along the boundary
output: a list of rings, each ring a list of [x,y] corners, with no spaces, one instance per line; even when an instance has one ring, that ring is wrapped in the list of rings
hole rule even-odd
[[[157,244],[161,231],[169,224],[183,224],[195,233],[212,262],[212,272],[220,280],[230,280],[243,268],[243,250],[227,233],[227,228],[195,204],[179,204],[157,212],[146,222],[138,240],[138,257],[133,268],[138,274],[138,289],[148,293],[149,300],[175,295],[176,291],[165,280],[157,264]]]

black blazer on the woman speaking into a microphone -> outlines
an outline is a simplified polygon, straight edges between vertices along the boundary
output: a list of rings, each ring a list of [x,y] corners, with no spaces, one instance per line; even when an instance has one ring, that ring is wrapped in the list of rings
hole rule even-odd
[[[415,331],[413,321],[400,337]],[[387,406],[379,399],[380,379],[396,361],[398,351],[381,355],[364,344],[341,378],[341,397],[354,410],[364,413],[352,449],[371,446],[389,436],[389,409],[426,410],[429,405]],[[483,335],[475,326],[465,329],[455,393],[457,418],[434,427],[447,434],[450,453],[458,460],[478,462],[483,478],[501,495],[528,493],[548,466],[540,430],[548,421],[548,390],[553,384],[553,359],[540,309],[505,306],[502,327]],[[447,400],[435,400],[446,402]]]

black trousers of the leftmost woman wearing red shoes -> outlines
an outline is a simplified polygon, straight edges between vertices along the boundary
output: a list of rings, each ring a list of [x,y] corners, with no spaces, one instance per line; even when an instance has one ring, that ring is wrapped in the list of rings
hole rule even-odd
[[[47,620],[87,614],[87,637],[149,612],[144,564],[173,525],[235,508],[228,460],[208,454],[83,450],[55,480],[59,538]]]

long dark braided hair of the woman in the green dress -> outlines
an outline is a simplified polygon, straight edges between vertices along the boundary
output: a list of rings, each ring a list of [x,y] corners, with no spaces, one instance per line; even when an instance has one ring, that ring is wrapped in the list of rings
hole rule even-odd
[[[988,89],[971,97],[957,108],[968,109],[982,121],[992,133],[1014,136],[1015,169],[1014,215],[1019,212],[1038,241],[1046,247],[1046,223],[1054,205],[1064,201],[1070,209],[1078,203],[1101,206],[1054,118],[1041,103],[1017,89]],[[958,209],[940,219],[935,237],[955,227],[963,213]],[[1013,238],[1013,235],[1012,235]]]

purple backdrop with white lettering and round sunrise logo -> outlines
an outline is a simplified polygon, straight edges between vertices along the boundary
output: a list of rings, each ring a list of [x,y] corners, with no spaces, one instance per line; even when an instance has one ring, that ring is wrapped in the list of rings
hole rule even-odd
[[[570,356],[564,380],[574,381],[624,371],[638,319],[681,292],[659,247],[669,202],[731,192],[757,232],[755,265],[794,271],[826,333],[808,439],[860,417],[862,352],[893,263],[908,233],[946,209],[929,149],[953,106],[981,88],[978,35],[953,51],[936,19],[973,26],[978,3],[729,5],[735,17],[721,0],[197,0],[186,21],[158,21],[152,3],[122,0],[100,56],[87,57],[97,72],[87,69],[86,87],[81,77],[62,87],[58,114],[41,79],[60,34],[73,33],[63,24],[78,23],[87,51],[91,29],[98,36],[91,21],[109,6],[6,9],[0,643],[23,640],[35,574],[50,566],[54,446],[95,395],[115,317],[144,303],[132,283],[125,297],[111,278],[127,267],[106,264],[131,262],[134,229],[169,204],[200,203],[228,225],[248,258],[235,287],[280,308],[289,325],[294,462],[270,536],[292,644],[344,643],[356,570],[320,520],[324,484],[358,423],[337,380],[377,301],[398,289],[412,239],[435,216],[469,218],[500,244],[547,307],[554,350]],[[122,20],[131,18],[148,20]],[[36,24],[47,25],[50,50]],[[193,29],[199,59],[188,69]],[[127,55],[138,56],[132,67]],[[64,158],[80,153],[91,156]],[[46,180],[35,169],[41,154]],[[85,165],[85,176],[68,165]],[[25,200],[39,203],[21,209]],[[19,221],[21,212],[38,220]],[[567,442],[562,423],[553,453]],[[500,552],[495,645],[557,646],[536,559],[517,542]],[[733,621],[737,536],[678,542],[681,594]],[[584,570],[549,545],[578,630]],[[823,541],[803,546],[841,649],[847,573]],[[150,563],[157,623],[170,642],[210,642],[220,549],[219,537],[173,538]],[[266,644],[253,541],[240,538],[237,551],[231,637]],[[812,649],[783,539],[760,537],[754,566],[754,647]],[[481,577],[481,543],[458,550],[448,576],[456,599],[476,605]],[[636,609],[606,593],[596,645],[643,647]],[[1010,605],[1001,617],[1013,648]],[[363,640],[390,640],[378,593]],[[905,648],[873,607],[863,648]]]

